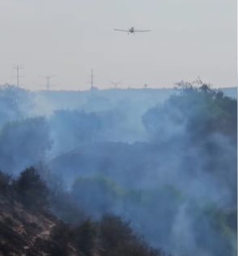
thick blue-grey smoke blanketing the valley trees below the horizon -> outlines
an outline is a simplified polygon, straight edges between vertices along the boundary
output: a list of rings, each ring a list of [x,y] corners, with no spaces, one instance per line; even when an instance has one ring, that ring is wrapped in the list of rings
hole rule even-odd
[[[173,255],[236,255],[235,99],[205,85],[24,92],[27,111],[3,91],[0,169],[44,162],[92,219],[121,215]]]

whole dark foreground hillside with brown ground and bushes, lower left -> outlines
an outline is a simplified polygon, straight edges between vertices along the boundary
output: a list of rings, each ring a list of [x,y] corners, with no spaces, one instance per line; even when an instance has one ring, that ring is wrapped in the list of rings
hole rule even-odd
[[[62,197],[63,193],[59,196],[48,190],[33,167],[16,180],[0,171],[0,256],[164,255],[142,241],[120,217],[82,219]],[[57,214],[70,214],[70,222],[51,214],[56,201]]]

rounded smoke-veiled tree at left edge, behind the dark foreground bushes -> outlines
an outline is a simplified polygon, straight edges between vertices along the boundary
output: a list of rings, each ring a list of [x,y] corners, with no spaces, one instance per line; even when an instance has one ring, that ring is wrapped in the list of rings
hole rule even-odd
[[[18,174],[30,165],[45,161],[51,147],[44,117],[5,124],[0,132],[0,169]]]

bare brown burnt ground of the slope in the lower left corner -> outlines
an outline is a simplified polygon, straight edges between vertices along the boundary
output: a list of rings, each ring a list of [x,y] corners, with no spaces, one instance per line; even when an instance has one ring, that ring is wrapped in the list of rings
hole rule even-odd
[[[45,210],[31,211],[20,202],[0,197],[0,255],[52,255],[59,242],[52,236],[60,221]],[[69,255],[76,249],[68,246]]]

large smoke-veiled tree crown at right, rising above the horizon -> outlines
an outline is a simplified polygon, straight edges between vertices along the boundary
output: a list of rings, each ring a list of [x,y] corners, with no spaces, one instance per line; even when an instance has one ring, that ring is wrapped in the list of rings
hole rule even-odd
[[[213,133],[220,133],[236,143],[237,136],[237,102],[235,99],[224,97],[221,91],[210,89],[209,85],[197,82],[199,87],[181,81],[180,91],[172,95],[164,106],[155,106],[142,117],[147,132],[158,141],[158,138],[169,139],[168,124],[173,127],[174,138],[186,129],[186,135],[193,142],[206,139]],[[181,134],[179,134],[181,135]]]

